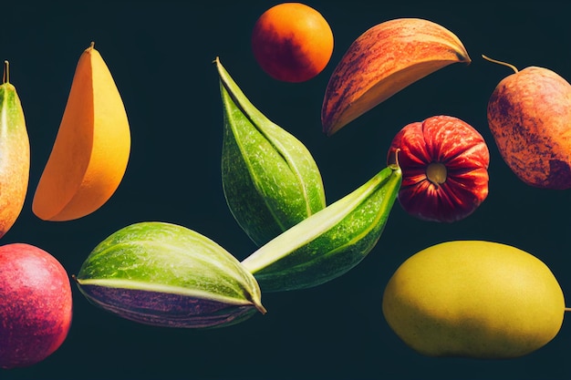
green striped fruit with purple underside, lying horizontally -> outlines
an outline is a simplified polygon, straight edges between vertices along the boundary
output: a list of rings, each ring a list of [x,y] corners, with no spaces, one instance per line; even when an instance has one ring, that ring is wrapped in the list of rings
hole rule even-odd
[[[257,282],[231,253],[167,222],[112,233],[75,280],[90,303],[140,324],[214,328],[265,313]]]

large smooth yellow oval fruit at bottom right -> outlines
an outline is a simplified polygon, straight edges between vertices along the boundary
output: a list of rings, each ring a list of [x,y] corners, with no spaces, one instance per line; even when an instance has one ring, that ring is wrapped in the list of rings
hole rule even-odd
[[[400,265],[382,310],[420,354],[511,358],[555,337],[565,300],[554,274],[532,254],[491,241],[448,241]]]

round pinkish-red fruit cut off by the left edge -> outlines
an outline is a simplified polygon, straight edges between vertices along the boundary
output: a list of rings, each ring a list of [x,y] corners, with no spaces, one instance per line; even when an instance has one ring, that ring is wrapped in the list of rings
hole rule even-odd
[[[65,341],[72,317],[67,272],[26,243],[0,247],[0,367],[35,365]]]

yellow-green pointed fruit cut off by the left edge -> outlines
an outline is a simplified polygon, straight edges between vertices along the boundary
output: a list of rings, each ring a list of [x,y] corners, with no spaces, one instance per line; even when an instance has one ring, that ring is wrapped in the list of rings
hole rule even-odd
[[[12,228],[24,207],[29,173],[26,119],[5,61],[0,85],[0,237]]]

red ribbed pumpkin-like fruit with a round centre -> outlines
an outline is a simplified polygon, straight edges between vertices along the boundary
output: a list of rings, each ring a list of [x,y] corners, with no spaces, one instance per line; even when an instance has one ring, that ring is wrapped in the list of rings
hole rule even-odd
[[[434,116],[402,128],[390,144],[388,159],[398,152],[402,169],[399,202],[424,221],[460,221],[488,195],[490,152],[482,135],[451,116]],[[432,162],[446,167],[446,180],[427,177]]]

